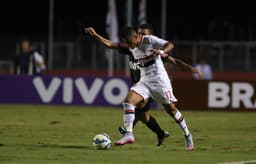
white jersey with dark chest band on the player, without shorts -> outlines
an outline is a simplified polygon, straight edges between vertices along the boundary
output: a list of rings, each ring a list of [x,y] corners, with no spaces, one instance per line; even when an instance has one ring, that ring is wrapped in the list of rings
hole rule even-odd
[[[161,56],[151,55],[151,49],[163,49],[168,41],[160,39],[153,35],[141,36],[140,44],[130,49],[135,61],[139,64],[141,70],[141,79],[149,80],[163,77],[168,79],[168,74],[164,68]]]

